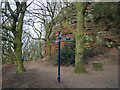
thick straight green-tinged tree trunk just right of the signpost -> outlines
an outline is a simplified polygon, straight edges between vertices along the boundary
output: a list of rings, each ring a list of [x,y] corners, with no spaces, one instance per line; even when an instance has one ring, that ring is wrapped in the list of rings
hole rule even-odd
[[[76,73],[86,73],[86,68],[84,67],[84,33],[83,33],[83,6],[84,3],[76,3],[77,7],[77,29],[76,29],[76,53],[75,53],[75,68]]]

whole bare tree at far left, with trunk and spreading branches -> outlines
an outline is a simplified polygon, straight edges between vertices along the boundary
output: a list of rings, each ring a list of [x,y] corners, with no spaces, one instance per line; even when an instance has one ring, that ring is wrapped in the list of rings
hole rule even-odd
[[[32,3],[32,2],[31,2]],[[30,4],[31,4],[30,3]],[[29,5],[30,5],[29,4]],[[23,31],[23,19],[25,16],[26,8],[29,6],[26,2],[19,2],[18,0],[14,1],[14,6],[10,2],[4,2],[2,4],[2,13],[5,16],[5,20],[2,22],[2,29],[9,30],[13,34],[13,38],[7,38],[2,36],[2,40],[9,41],[13,43],[16,63],[17,63],[17,72],[21,73],[25,71],[25,68],[22,63],[22,31]],[[8,23],[9,22],[9,23]],[[7,23],[7,24],[6,24]]]

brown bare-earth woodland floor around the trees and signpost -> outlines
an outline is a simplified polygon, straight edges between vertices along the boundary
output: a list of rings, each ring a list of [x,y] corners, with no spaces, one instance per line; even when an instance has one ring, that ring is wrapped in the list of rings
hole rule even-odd
[[[92,61],[106,62],[103,70],[94,71]],[[16,65],[3,65],[3,88],[118,88],[118,50],[109,49],[104,55],[89,59],[87,74],[76,74],[74,67],[61,66],[61,83],[57,82],[57,66],[47,58],[25,62],[26,72],[16,73]]]

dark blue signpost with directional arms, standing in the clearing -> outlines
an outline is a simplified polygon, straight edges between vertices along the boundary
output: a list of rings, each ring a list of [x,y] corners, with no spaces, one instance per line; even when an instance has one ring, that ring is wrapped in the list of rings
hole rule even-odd
[[[66,37],[66,38],[61,38],[61,31],[58,31],[58,40],[56,41],[53,41],[53,42],[58,42],[58,82],[60,83],[60,41],[66,41],[66,40],[70,40],[69,37]]]

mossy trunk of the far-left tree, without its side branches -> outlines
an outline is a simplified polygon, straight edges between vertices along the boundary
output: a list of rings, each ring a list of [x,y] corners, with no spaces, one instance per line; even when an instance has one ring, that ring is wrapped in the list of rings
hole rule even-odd
[[[15,33],[15,53],[16,53],[16,59],[17,59],[17,72],[21,73],[25,71],[25,68],[23,66],[22,62],[22,31],[23,31],[23,18],[26,11],[26,2],[22,2],[22,10],[19,11],[20,17],[17,18],[18,24],[16,25],[16,33]]]

